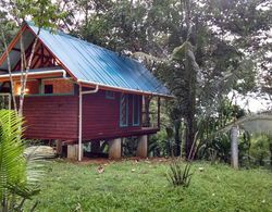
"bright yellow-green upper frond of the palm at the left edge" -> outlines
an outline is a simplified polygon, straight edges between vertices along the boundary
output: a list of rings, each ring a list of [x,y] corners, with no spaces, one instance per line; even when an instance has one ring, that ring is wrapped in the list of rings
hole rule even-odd
[[[25,182],[22,119],[15,112],[0,110],[0,199],[9,184]]]

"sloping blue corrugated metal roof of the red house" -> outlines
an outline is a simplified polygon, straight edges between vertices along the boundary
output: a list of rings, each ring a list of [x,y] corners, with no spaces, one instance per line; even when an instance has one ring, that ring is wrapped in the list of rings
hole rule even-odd
[[[28,26],[37,34],[38,27]],[[169,90],[139,62],[64,33],[41,29],[39,39],[77,80],[168,96]]]

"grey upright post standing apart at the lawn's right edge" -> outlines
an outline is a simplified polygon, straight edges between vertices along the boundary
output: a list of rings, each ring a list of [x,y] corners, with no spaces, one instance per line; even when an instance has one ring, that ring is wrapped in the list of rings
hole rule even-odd
[[[232,166],[238,170],[238,126],[233,126],[231,129],[231,149],[232,149]]]

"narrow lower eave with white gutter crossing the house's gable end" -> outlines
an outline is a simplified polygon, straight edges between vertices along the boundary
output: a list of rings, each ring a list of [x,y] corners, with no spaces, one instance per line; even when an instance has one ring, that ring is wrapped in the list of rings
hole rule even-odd
[[[21,76],[26,75],[25,72],[13,72],[10,74],[0,74],[0,82],[9,82],[10,77],[13,80],[20,80]],[[66,77],[66,72],[64,70],[46,70],[46,71],[38,71],[38,70],[29,70],[27,73],[27,79],[35,79],[35,78],[57,78],[57,77]]]

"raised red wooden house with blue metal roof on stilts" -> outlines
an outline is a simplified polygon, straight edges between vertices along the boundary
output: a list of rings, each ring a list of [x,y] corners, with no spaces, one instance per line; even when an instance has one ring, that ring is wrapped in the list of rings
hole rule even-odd
[[[21,30],[27,58],[38,28],[25,23]],[[20,35],[9,45],[15,91],[21,85]],[[0,92],[10,92],[5,53],[0,59]],[[159,124],[144,127],[147,97],[160,99],[169,91],[139,62],[42,28],[26,86],[25,137],[59,140],[69,146],[69,155],[82,160],[83,142],[108,140],[110,157],[119,158],[120,138],[139,136],[138,152],[146,155],[146,136],[159,130]]]

